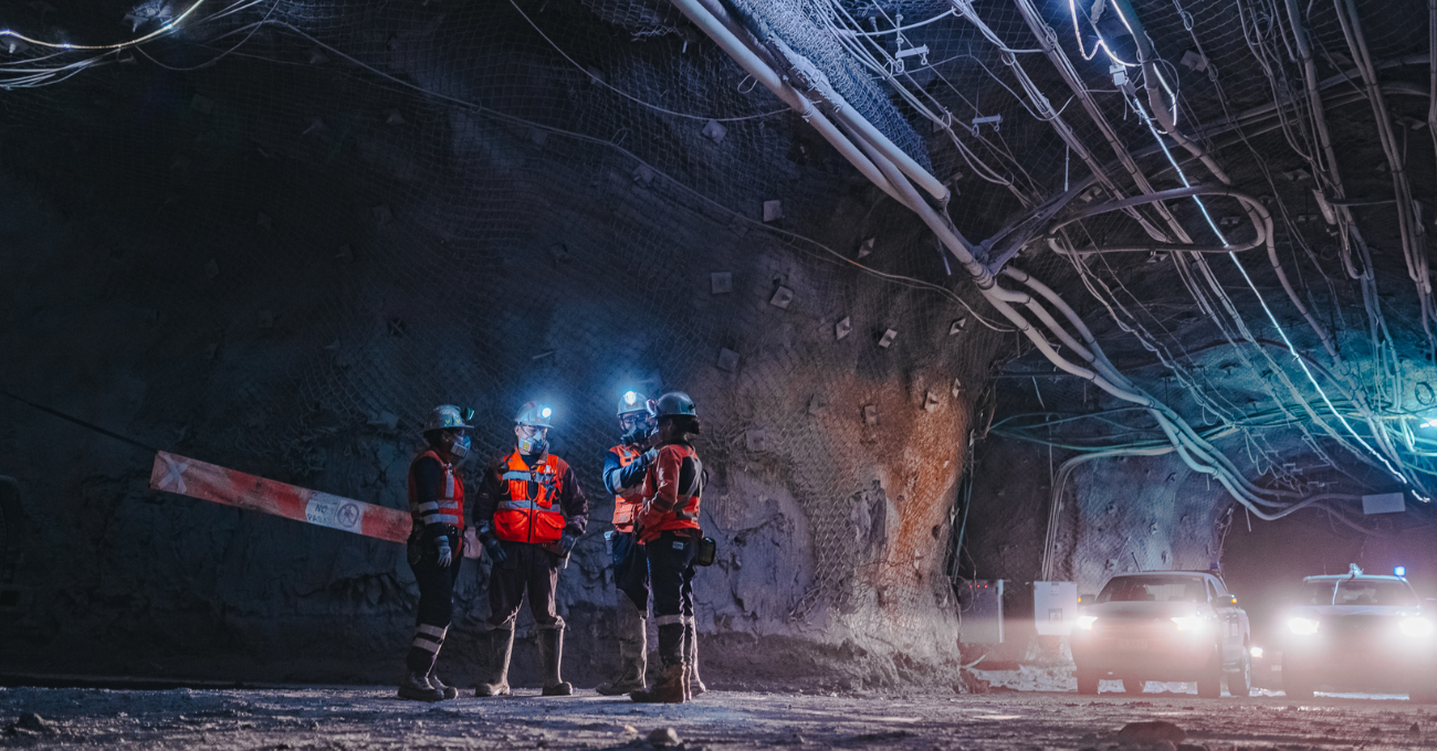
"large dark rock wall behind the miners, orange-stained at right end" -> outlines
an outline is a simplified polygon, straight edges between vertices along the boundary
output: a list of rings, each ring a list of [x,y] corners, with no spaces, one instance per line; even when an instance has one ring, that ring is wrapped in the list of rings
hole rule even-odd
[[[479,411],[481,455],[509,444],[519,404],[553,404],[556,452],[593,510],[560,576],[568,675],[592,685],[616,662],[599,491],[614,404],[684,389],[711,471],[703,524],[720,553],[697,596],[718,685],[950,665],[944,550],[969,392],[997,336],[954,326],[970,316],[951,294],[839,257],[875,238],[865,263],[931,279],[931,237],[790,115],[729,122],[718,139],[693,119],[593,135],[608,122],[595,109],[631,105],[539,62],[514,19],[474,13],[348,39],[379,67],[260,29],[254,57],[7,93],[4,391],[149,448],[389,507],[435,404]],[[336,19],[306,23],[343,39]],[[458,69],[441,55],[456,40],[480,50]],[[635,45],[604,76],[645,80],[660,52],[673,55]],[[727,72],[717,55],[680,57],[687,80]],[[494,66],[507,78],[471,75]],[[767,200],[782,218],[764,223]],[[19,593],[0,607],[7,669],[397,675],[417,600],[401,546],[151,491],[151,460],[0,399],[0,475],[26,527],[0,582]],[[461,682],[487,615],[487,567],[467,566],[445,648]],[[535,662],[522,642],[519,684]]]

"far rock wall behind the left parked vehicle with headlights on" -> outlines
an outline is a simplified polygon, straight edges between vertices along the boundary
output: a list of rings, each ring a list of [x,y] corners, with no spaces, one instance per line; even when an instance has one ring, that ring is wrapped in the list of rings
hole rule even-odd
[[[1004,580],[1006,645],[993,650],[1000,658],[1017,659],[1036,646],[1033,582],[1076,582],[1079,592],[1095,593],[1119,573],[1206,572],[1223,560],[1233,501],[1207,475],[1174,455],[1085,461],[1063,482],[1053,514],[1052,485],[1072,457],[997,437],[977,447],[958,570]],[[1046,579],[1045,540],[1053,544]]]

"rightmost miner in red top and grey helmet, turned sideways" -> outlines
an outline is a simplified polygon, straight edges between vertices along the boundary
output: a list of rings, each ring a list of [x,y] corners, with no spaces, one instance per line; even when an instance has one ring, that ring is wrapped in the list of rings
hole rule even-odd
[[[657,419],[658,455],[644,475],[635,534],[648,557],[658,658],[664,669],[652,688],[634,691],[629,696],[637,702],[673,704],[704,691],[697,673],[698,632],[694,628],[694,560],[703,540],[698,503],[704,465],[690,444],[700,431],[694,401],[673,391],[660,396],[651,412]]]

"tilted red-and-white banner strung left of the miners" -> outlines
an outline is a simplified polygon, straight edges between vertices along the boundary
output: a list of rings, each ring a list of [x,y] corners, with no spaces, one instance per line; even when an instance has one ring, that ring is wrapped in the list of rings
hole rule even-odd
[[[405,541],[412,526],[408,511],[264,480],[165,451],[155,454],[149,487],[394,543]]]

